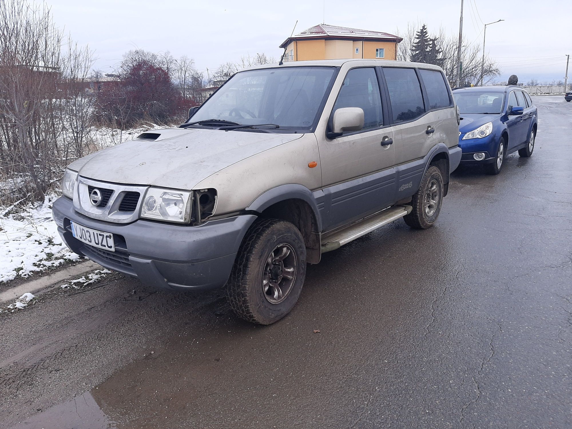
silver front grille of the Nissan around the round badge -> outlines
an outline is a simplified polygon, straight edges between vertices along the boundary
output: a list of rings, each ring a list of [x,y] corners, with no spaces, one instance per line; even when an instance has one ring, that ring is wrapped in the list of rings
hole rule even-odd
[[[141,196],[148,187],[101,182],[78,176],[73,205],[82,215],[92,219],[127,224],[138,219]],[[98,204],[90,198],[96,189],[101,194]]]

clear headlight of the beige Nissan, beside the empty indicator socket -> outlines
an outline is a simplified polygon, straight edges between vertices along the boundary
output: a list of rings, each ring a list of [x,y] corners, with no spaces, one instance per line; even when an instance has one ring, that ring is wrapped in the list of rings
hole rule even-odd
[[[141,217],[189,223],[191,193],[184,190],[149,188],[141,205]]]

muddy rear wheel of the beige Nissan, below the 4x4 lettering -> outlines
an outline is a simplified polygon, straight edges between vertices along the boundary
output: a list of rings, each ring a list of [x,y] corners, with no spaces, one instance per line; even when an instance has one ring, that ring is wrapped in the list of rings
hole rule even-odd
[[[416,229],[431,228],[441,211],[443,189],[441,170],[435,165],[430,165],[411,200],[413,210],[403,217],[405,223]]]

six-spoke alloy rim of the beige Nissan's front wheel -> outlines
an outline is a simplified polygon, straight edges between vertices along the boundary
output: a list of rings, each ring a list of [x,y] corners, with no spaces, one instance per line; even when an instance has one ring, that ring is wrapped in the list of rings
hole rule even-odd
[[[268,255],[262,273],[264,297],[271,304],[280,304],[292,291],[297,273],[296,252],[281,243]]]

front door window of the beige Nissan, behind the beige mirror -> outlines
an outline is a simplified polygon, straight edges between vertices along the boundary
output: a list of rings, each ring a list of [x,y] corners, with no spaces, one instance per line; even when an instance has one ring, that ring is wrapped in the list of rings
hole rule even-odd
[[[383,125],[382,97],[379,94],[378,77],[375,69],[351,69],[345,75],[340,93],[333,105],[337,109],[357,107],[363,110],[363,129]]]

